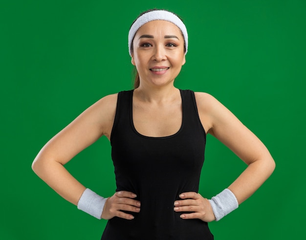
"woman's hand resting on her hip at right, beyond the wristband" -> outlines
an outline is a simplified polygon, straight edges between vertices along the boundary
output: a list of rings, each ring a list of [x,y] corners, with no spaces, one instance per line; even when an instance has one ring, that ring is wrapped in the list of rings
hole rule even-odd
[[[199,218],[202,221],[210,222],[215,220],[213,209],[207,198],[195,192],[182,193],[179,197],[183,200],[176,200],[174,205],[175,212],[193,212],[182,214],[180,218],[192,219]]]

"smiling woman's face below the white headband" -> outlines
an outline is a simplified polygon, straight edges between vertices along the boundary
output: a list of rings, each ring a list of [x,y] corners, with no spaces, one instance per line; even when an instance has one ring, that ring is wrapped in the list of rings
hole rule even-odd
[[[184,37],[172,22],[152,21],[142,25],[133,40],[131,62],[143,84],[173,84],[185,64]]]

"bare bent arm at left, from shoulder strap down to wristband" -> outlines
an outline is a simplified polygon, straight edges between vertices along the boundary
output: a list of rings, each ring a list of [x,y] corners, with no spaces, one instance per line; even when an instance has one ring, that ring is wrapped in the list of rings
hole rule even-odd
[[[86,109],[48,141],[33,161],[33,171],[59,195],[77,205],[86,189],[64,165],[102,135],[110,137],[117,94],[109,95]]]

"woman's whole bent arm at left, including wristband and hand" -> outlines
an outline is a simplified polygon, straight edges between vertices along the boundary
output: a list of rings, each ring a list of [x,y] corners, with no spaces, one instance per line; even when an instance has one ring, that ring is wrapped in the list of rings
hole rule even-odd
[[[131,214],[121,210],[139,212],[140,202],[134,200],[135,195],[127,191],[117,192],[104,201],[103,197],[91,190],[85,191],[85,186],[68,173],[64,165],[102,135],[110,138],[116,105],[117,94],[113,94],[89,107],[55,135],[38,153],[32,164],[34,172],[60,196],[99,219],[115,216],[133,219]]]

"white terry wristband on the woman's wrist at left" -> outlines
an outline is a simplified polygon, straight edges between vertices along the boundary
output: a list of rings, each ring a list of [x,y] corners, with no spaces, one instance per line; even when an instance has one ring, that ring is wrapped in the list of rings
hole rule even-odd
[[[107,198],[97,195],[92,192],[89,188],[85,189],[79,202],[78,209],[86,212],[87,214],[101,219],[103,208]]]

